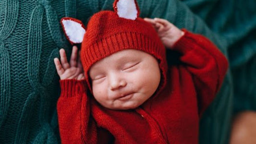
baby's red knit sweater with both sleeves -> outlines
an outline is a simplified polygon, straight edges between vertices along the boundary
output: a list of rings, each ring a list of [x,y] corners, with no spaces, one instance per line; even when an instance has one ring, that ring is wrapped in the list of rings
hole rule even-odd
[[[219,90],[228,62],[207,38],[185,32],[164,88],[139,108],[110,110],[85,81],[61,80],[57,110],[63,144],[197,144],[199,117]]]

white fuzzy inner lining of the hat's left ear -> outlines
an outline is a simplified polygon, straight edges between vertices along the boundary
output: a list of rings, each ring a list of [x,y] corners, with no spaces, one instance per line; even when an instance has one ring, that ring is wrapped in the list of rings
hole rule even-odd
[[[82,43],[85,35],[85,29],[82,27],[82,24],[72,20],[62,20],[62,24],[64,26],[64,31],[71,42]]]

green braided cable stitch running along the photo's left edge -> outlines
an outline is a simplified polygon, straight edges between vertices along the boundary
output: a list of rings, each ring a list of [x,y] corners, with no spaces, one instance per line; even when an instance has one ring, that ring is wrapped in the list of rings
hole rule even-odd
[[[3,2],[0,2],[2,4]],[[0,128],[3,124],[3,121],[6,119],[7,110],[10,103],[10,54],[5,47],[4,40],[6,40],[17,23],[18,10],[13,8],[18,7],[18,0],[13,0],[12,2],[6,3],[6,9],[2,10],[5,16],[5,23],[3,23],[0,29]],[[1,14],[2,15],[2,14]]]

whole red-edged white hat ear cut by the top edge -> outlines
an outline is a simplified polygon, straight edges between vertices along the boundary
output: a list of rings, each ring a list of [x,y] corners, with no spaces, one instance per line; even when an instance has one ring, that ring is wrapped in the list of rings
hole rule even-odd
[[[113,8],[119,17],[125,19],[135,20],[140,14],[136,0],[115,0]]]

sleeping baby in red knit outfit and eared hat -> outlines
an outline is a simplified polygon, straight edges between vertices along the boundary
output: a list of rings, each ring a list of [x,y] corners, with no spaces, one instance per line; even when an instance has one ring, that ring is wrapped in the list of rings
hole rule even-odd
[[[228,62],[206,37],[163,19],[141,19],[134,0],[94,14],[85,30],[63,18],[73,47],[54,59],[63,144],[198,144],[199,118],[218,92]],[[165,47],[181,53],[167,65]],[[80,62],[81,59],[81,62]]]

